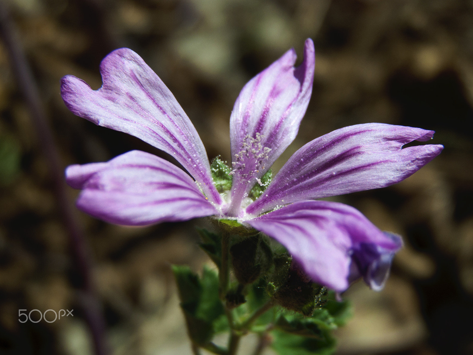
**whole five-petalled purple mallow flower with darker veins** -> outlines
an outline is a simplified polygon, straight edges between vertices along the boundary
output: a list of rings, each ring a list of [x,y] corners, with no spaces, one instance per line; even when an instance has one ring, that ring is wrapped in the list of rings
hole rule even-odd
[[[193,124],[164,83],[130,49],[100,65],[103,86],[92,90],[74,76],[61,95],[76,115],[129,133],[171,154],[191,176],[143,151],[105,163],[72,165],[70,186],[82,189],[77,206],[104,221],[125,225],[215,216],[254,227],[284,245],[312,280],[336,291],[363,277],[383,287],[397,235],[384,233],[345,204],[315,199],[402,181],[436,157],[443,146],[433,131],[390,124],[357,124],[307,143],[294,153],[258,198],[250,192],[294,140],[312,93],[314,44],[294,68],[290,49],[242,89],[230,116],[231,189],[214,186],[205,148]],[[195,181],[194,181],[195,180]],[[254,200],[253,200],[254,199]]]

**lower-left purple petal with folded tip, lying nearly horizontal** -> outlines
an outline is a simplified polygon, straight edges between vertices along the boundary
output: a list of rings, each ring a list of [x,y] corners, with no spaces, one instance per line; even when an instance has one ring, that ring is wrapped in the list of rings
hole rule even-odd
[[[106,163],[72,165],[66,180],[82,189],[80,210],[110,223],[147,225],[217,213],[192,177],[144,151],[129,151]]]

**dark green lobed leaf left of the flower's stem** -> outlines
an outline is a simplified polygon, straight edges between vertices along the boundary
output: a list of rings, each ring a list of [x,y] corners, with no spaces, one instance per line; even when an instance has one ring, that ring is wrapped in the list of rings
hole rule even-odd
[[[216,329],[222,328],[220,318],[225,314],[219,300],[218,275],[207,267],[201,278],[188,266],[173,265],[172,269],[189,337],[195,344],[207,344]]]

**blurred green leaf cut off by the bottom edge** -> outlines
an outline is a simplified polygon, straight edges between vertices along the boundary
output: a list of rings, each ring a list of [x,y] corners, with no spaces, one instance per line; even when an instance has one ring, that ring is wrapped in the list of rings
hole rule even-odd
[[[330,355],[335,351],[335,339],[328,333],[321,339],[301,337],[280,330],[271,332],[272,348],[279,355]]]

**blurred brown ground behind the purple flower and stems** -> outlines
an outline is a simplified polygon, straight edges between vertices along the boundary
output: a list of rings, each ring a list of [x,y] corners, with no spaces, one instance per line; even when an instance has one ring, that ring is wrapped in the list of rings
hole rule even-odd
[[[313,95],[276,170],[306,142],[351,124],[437,131],[432,142],[445,150],[412,177],[334,199],[406,244],[384,291],[358,283],[345,293],[354,317],[337,331],[338,353],[473,354],[472,0],[7,2],[64,167],[132,149],[165,156],[72,115],[61,100],[62,76],[98,89],[101,59],[124,46],[171,89],[210,159],[229,160],[229,115],[245,82],[292,46],[301,57],[307,37],[316,48]],[[92,354],[68,236],[1,43],[0,113],[0,353]],[[77,191],[68,191],[72,201]],[[125,228],[79,218],[113,354],[190,354],[169,266],[208,262],[193,229],[203,222]],[[74,309],[74,317],[22,324],[18,309]]]

